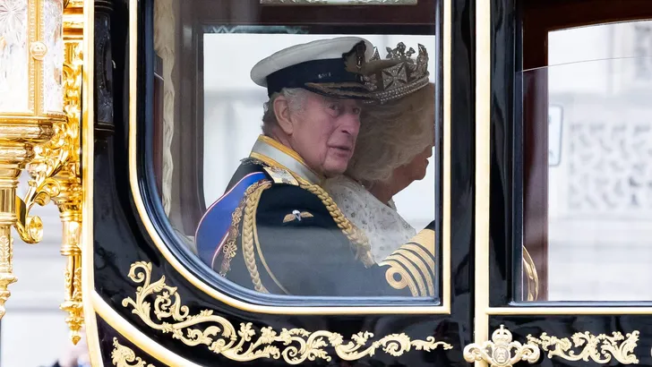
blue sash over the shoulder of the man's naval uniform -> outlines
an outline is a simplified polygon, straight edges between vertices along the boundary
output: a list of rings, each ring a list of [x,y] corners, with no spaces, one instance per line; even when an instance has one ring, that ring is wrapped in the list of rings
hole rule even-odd
[[[231,227],[231,216],[242,200],[244,192],[253,183],[257,183],[265,177],[262,172],[245,175],[218,201],[215,201],[203,215],[194,235],[194,243],[197,246],[199,257],[211,268],[227,240],[228,229]]]

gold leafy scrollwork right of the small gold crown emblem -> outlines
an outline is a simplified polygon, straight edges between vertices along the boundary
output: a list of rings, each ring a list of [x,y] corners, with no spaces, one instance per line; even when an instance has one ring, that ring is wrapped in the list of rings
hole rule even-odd
[[[600,364],[609,363],[614,358],[622,364],[638,364],[639,359],[636,358],[634,349],[639,341],[639,334],[639,331],[635,330],[623,336],[620,331],[614,331],[610,337],[606,334],[594,336],[585,331],[573,334],[571,339],[568,337],[560,339],[543,333],[541,337],[528,335],[528,342],[541,346],[541,349],[548,352],[548,358],[558,356],[567,361],[584,362],[591,359]],[[581,350],[577,353],[571,350],[572,347]]]

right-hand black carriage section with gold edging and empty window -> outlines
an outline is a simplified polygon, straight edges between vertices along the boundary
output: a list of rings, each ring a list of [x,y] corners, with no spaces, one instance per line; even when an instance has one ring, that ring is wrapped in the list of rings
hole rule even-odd
[[[652,365],[652,4],[480,3],[465,357]]]

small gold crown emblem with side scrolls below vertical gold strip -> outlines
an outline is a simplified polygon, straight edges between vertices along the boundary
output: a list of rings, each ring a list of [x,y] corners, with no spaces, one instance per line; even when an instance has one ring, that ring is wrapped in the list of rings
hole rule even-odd
[[[539,348],[531,343],[521,345],[513,341],[510,330],[501,325],[501,329],[493,331],[492,341],[486,341],[482,346],[476,343],[466,346],[464,359],[468,363],[484,361],[492,367],[511,367],[521,361],[536,363]]]

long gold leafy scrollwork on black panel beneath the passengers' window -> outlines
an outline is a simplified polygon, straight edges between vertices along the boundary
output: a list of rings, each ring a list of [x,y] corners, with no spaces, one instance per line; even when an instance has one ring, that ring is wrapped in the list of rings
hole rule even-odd
[[[412,340],[406,334],[392,334],[367,343],[373,338],[370,332],[359,332],[345,342],[338,333],[330,331],[307,331],[305,329],[282,329],[280,332],[270,327],[260,329],[260,334],[250,322],[236,327],[227,319],[203,310],[191,315],[187,306],[182,305],[181,296],[176,287],[167,286],[165,276],[151,282],[151,263],[138,261],[132,264],[129,277],[141,284],[136,289],[135,300],[127,297],[124,307],[131,307],[151,329],[171,333],[187,346],[208,346],[215,354],[222,354],[230,360],[248,362],[260,358],[282,358],[286,363],[299,364],[305,361],[322,359],[330,361],[331,357],[324,349],[333,347],[339,358],[355,361],[377,350],[399,356],[415,350],[426,352],[438,347],[451,349],[448,343],[436,341],[434,337],[425,340]],[[156,322],[152,320],[152,313]],[[538,352],[538,349],[536,349]]]

